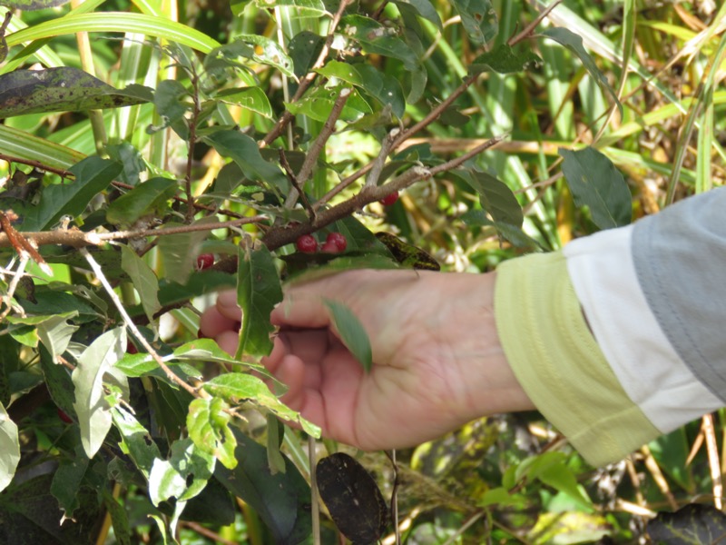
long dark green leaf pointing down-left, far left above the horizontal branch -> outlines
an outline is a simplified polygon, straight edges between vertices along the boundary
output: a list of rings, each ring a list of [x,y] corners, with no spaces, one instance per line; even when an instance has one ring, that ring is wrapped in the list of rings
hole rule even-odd
[[[93,197],[121,173],[122,165],[94,155],[74,164],[70,171],[75,181],[45,187],[40,203],[25,215],[23,231],[44,231],[58,223],[63,215],[80,215]]]

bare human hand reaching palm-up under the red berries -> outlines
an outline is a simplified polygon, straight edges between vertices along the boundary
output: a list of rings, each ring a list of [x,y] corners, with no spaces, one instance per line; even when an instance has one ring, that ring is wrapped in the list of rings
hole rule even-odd
[[[532,409],[505,360],[493,311],[495,274],[341,272],[289,286],[262,363],[291,409],[323,435],[364,450],[412,446],[486,414]],[[338,339],[323,299],[348,306],[368,332],[366,373]],[[240,309],[222,292],[201,332],[237,346]]]

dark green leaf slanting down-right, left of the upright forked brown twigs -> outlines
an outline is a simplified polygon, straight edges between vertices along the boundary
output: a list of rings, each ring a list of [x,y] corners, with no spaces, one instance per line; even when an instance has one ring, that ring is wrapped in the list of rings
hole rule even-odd
[[[242,172],[255,182],[276,187],[282,193],[287,193],[288,178],[280,167],[268,163],[260,155],[257,143],[247,134],[239,131],[217,131],[202,138],[215,150],[240,165]]]

